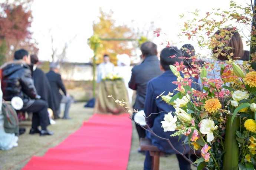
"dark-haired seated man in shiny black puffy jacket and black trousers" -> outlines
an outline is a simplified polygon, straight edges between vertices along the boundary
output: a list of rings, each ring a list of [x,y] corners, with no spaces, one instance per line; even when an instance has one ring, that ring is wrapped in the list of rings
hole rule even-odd
[[[30,134],[52,135],[53,133],[46,129],[49,124],[47,103],[40,100],[40,96],[36,92],[29,64],[29,53],[21,49],[15,51],[14,61],[6,63],[1,67],[3,99],[11,101],[13,97],[18,96],[24,103],[20,111],[34,113]],[[41,130],[38,129],[39,125]]]

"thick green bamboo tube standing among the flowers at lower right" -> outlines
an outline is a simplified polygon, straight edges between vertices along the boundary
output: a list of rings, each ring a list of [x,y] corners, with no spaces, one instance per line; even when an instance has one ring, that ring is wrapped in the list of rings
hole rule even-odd
[[[236,141],[236,131],[240,127],[240,116],[236,115],[233,124],[232,114],[227,114],[226,118],[223,170],[238,170],[239,147]]]

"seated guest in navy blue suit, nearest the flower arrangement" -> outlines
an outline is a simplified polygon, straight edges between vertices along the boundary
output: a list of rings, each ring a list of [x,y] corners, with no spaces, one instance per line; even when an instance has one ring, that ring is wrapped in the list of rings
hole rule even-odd
[[[164,120],[164,115],[168,112],[175,111],[174,107],[165,103],[161,100],[161,97],[157,98],[158,95],[164,93],[167,95],[168,92],[173,92],[177,88],[177,85],[173,84],[173,81],[177,81],[177,77],[170,70],[170,65],[175,64],[175,62],[181,62],[181,59],[176,57],[171,58],[170,56],[176,55],[176,57],[182,56],[181,51],[176,47],[167,47],[161,51],[160,54],[160,68],[165,71],[161,76],[152,79],[147,84],[147,96],[145,100],[145,109],[147,123],[151,130],[160,137],[168,138],[172,142],[175,149],[183,153],[184,146],[183,140],[184,137],[178,141],[178,136],[170,137],[173,132],[164,132],[164,129],[161,127],[161,121]],[[158,114],[151,114],[158,113]],[[151,115],[150,115],[151,114]],[[147,131],[147,138],[151,139],[152,144],[158,147],[161,151],[174,154],[175,151],[171,148],[170,144],[166,140],[160,139],[151,132]],[[185,146],[186,151],[189,151],[189,146]],[[185,152],[186,154],[186,152]],[[190,170],[190,163],[184,159],[180,154],[176,154],[180,170]],[[146,152],[146,158],[144,162],[144,170],[151,170],[152,157],[150,156],[149,151]]]

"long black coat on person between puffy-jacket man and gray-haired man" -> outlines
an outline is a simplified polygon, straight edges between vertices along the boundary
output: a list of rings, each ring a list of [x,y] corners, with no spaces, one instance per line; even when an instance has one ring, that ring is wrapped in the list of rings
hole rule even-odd
[[[41,69],[36,68],[32,71],[32,77],[34,80],[37,94],[41,96],[42,100],[45,100],[47,102],[48,107],[53,110],[53,113],[55,113],[56,110],[55,104],[53,103],[52,88],[45,73]]]

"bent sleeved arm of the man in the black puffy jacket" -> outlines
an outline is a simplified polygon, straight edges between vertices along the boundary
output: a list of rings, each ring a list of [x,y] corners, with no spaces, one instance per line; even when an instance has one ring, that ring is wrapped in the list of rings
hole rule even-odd
[[[24,69],[20,76],[20,85],[22,86],[22,91],[31,99],[39,99],[40,96],[36,92],[34,81],[31,76],[31,71],[29,69]]]

